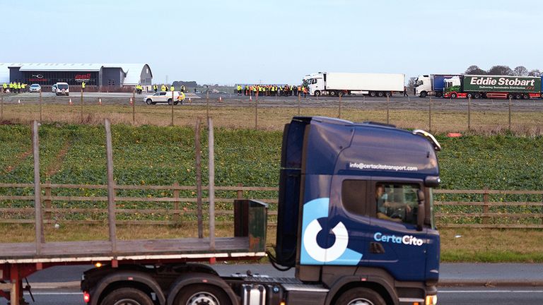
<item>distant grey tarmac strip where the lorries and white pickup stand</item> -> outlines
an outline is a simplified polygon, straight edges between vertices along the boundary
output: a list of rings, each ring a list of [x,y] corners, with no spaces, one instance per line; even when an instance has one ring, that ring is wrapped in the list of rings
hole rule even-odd
[[[151,94],[151,93],[149,93]],[[168,106],[168,104],[147,105],[144,103],[144,96],[135,95],[136,105],[144,107],[160,107]],[[108,104],[129,104],[131,92],[85,92],[83,102],[85,104],[97,104],[98,99],[102,99],[103,105]],[[187,93],[187,100],[191,99],[191,103],[185,102],[185,107],[202,106],[207,103],[205,94]],[[81,100],[81,92],[72,92],[69,97],[55,96],[52,92],[42,92],[43,104],[68,104],[69,100],[74,103],[79,103]],[[236,95],[236,94],[210,94],[209,104],[212,107],[254,107],[257,101],[256,97]],[[394,95],[390,98],[389,108],[394,109],[411,109],[427,111],[432,101],[432,109],[436,111],[467,111],[468,101],[466,99],[443,99],[438,97],[402,97]],[[4,104],[37,104],[39,95],[37,93],[21,93],[18,95],[4,95]],[[362,96],[345,96],[341,98],[341,107],[353,109],[384,109],[386,107],[385,97],[362,97]],[[339,107],[339,97],[300,97],[300,107]],[[295,96],[289,97],[258,97],[259,107],[298,107],[298,98]],[[472,100],[470,107],[472,111],[498,111],[508,112],[508,100]],[[511,109],[514,112],[530,111],[543,112],[543,100],[512,100]]]

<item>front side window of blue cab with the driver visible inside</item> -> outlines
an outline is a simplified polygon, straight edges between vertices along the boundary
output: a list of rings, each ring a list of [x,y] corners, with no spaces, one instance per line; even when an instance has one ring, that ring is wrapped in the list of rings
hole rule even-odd
[[[375,184],[377,217],[416,225],[418,184]]]

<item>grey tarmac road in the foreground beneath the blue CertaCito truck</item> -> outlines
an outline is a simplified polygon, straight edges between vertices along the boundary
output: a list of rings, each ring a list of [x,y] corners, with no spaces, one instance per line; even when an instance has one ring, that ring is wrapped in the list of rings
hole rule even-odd
[[[78,289],[81,273],[92,265],[59,266],[29,277],[36,304],[83,305]],[[280,272],[269,264],[231,265],[218,263],[221,275],[236,272],[293,277],[293,270]],[[543,304],[543,264],[522,263],[442,263],[438,304]],[[30,297],[25,297],[30,300]],[[0,300],[0,305],[6,304]]]

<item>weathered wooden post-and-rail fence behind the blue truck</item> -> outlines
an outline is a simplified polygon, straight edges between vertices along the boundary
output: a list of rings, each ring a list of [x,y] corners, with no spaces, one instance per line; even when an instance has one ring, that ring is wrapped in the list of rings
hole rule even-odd
[[[103,223],[103,220],[54,220],[53,215],[67,215],[73,213],[87,213],[87,214],[107,214],[107,208],[53,208],[53,202],[93,202],[93,203],[107,203],[107,196],[53,196],[52,193],[56,193],[59,189],[98,189],[107,190],[107,185],[100,184],[51,184],[48,181],[45,184],[40,184],[42,193],[42,204],[44,205],[43,212],[45,213],[44,222],[71,222],[78,224],[92,224]],[[28,195],[21,196],[0,196],[0,203],[2,201],[29,201],[33,202],[35,196],[30,189],[34,189],[34,184],[0,184],[1,189],[28,189]],[[151,186],[151,185],[115,185],[115,191],[172,191],[172,196],[161,197],[138,197],[138,196],[115,196],[116,203],[173,203],[173,208],[115,208],[115,213],[118,214],[133,214],[139,215],[173,215],[168,220],[119,220],[119,224],[141,224],[141,225],[174,225],[180,222],[191,222],[191,220],[181,220],[182,216],[194,216],[197,215],[197,210],[194,208],[183,208],[182,203],[197,203],[196,197],[181,197],[180,191],[197,191],[196,186],[180,186],[177,183],[172,185],[163,186]],[[253,196],[247,196],[247,192],[252,191],[279,191],[277,187],[259,187],[259,186],[215,186],[216,191],[232,191],[235,193],[232,197],[215,198],[219,203],[231,203],[234,198],[245,198]],[[481,195],[482,201],[435,201],[436,205],[436,219],[438,227],[474,227],[474,228],[539,228],[543,229],[543,191],[508,191],[508,190],[445,190],[435,189],[434,194],[449,194],[449,195]],[[540,201],[491,201],[489,197],[491,195],[527,195],[527,196],[541,196]],[[269,215],[276,216],[276,199],[271,198],[254,198],[264,203],[269,203],[270,210]],[[202,198],[202,202],[209,203],[209,198]],[[470,212],[459,212],[457,210],[450,210],[454,207],[465,207]],[[508,208],[518,209],[515,211],[496,211],[493,208]],[[526,209],[530,208],[528,212]],[[21,218],[21,215],[30,217],[35,212],[35,208],[6,208],[0,207],[0,213],[4,215],[3,219],[0,219],[0,223],[33,223],[32,219],[8,219],[5,217],[8,214],[13,214]],[[216,210],[217,216],[231,217],[233,210],[219,209]],[[208,213],[204,213],[204,216],[208,216]],[[274,218],[274,217],[272,217]],[[508,222],[503,222],[507,220]],[[218,222],[221,223],[221,222]],[[224,223],[228,223],[225,221]],[[276,225],[275,220],[270,221],[271,225]]]

